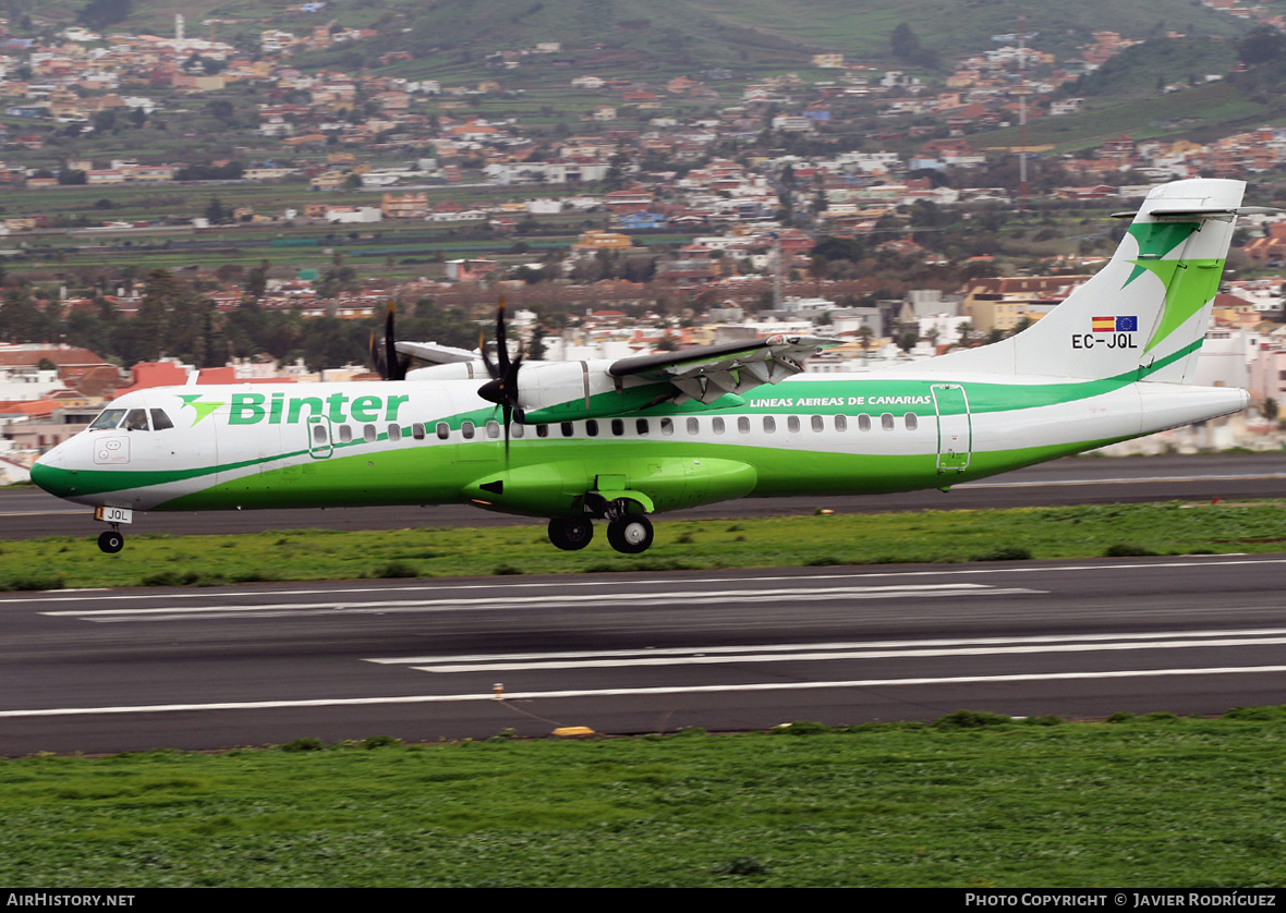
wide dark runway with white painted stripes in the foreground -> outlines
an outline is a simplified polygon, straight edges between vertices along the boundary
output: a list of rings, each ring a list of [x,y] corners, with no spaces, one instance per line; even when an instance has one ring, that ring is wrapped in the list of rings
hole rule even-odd
[[[1283,703],[1286,556],[0,598],[0,754]]]

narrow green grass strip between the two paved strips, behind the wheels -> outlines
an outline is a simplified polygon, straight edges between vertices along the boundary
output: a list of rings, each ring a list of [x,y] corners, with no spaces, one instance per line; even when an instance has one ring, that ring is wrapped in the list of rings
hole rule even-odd
[[[642,556],[612,552],[601,525],[585,550],[559,552],[539,522],[167,536],[147,535],[145,517],[125,530],[125,550],[108,556],[95,543],[102,527],[86,514],[82,538],[0,540],[0,590],[1282,552],[1283,508],[1286,502],[1165,503],[660,520]]]

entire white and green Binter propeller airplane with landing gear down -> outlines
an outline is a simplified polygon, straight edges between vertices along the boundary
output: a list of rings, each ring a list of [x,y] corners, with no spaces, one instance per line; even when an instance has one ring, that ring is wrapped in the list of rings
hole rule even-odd
[[[468,503],[548,517],[568,550],[604,521],[638,553],[664,511],[945,490],[1246,408],[1244,390],[1191,383],[1244,189],[1154,189],[1107,266],[1044,319],[921,363],[806,375],[832,345],[806,337],[511,361],[502,312],[499,364],[421,346],[446,363],[405,374],[390,359],[405,379],[385,383],[141,390],[31,477],[96,508],[104,552],[135,511]]]

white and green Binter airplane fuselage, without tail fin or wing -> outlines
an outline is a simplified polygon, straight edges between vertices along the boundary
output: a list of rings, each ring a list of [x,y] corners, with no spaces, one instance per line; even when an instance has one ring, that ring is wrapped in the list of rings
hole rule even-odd
[[[78,435],[33,477],[72,502],[140,511],[463,502],[557,517],[598,491],[652,513],[948,487],[1245,402],[1240,390],[1124,379],[801,375],[728,409],[514,423],[507,447],[499,408],[468,381],[166,387],[111,406],[145,410],[147,427]]]

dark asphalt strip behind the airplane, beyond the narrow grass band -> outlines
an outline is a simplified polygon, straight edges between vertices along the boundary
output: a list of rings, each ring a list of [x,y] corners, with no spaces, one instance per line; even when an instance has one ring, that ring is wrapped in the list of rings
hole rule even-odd
[[[896,495],[842,498],[743,499],[661,514],[666,520],[751,518],[885,511],[952,511],[1114,504],[1155,500],[1240,500],[1286,496],[1286,453],[1213,454],[1199,456],[1079,456],[1042,463],[950,493],[912,491]],[[103,525],[93,511],[31,489],[0,491],[0,530],[5,539],[96,536]],[[544,521],[489,513],[464,504],[440,507],[343,508],[333,511],[152,512],[136,517],[132,535],[231,535],[264,530],[400,530],[430,526],[512,526]]]

